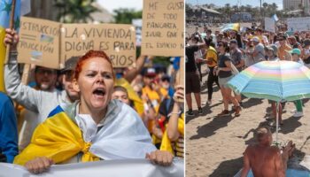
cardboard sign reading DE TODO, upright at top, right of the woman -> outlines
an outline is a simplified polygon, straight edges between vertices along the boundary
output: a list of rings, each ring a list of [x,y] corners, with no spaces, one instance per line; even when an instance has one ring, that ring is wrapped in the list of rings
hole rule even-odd
[[[177,57],[184,53],[184,1],[144,0],[143,55]]]

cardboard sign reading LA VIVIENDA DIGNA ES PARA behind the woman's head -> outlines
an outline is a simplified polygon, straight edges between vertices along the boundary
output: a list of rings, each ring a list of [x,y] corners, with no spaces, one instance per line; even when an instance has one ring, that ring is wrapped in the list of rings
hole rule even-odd
[[[88,50],[104,50],[114,67],[136,64],[136,30],[131,25],[63,24],[61,63]]]

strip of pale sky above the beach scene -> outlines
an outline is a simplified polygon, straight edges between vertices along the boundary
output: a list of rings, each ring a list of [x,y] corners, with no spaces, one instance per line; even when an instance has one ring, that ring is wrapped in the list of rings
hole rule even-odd
[[[236,5],[236,4],[241,4],[241,5],[246,5],[250,4],[252,6],[260,6],[260,0],[185,0],[187,4],[215,4],[219,6],[224,6],[225,4],[230,4],[230,5]],[[216,2],[216,3],[214,3]],[[261,4],[263,3],[267,4],[277,4],[278,9],[283,9],[283,0],[261,0]]]

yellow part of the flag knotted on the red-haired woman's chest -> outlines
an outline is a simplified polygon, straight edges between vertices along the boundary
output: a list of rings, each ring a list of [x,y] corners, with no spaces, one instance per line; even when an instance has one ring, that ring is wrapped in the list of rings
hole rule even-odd
[[[54,114],[54,115],[52,115]],[[36,157],[47,157],[55,163],[64,162],[80,151],[82,162],[97,161],[89,152],[90,142],[84,142],[80,128],[58,106],[49,119],[36,127],[31,143],[14,159],[14,164],[25,165]]]

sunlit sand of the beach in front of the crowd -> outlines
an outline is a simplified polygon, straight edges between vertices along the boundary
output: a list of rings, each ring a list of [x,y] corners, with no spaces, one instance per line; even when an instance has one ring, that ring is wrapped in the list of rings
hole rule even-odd
[[[203,65],[203,72],[206,65]],[[221,92],[214,84],[213,104],[207,101],[206,73],[203,77],[202,103],[203,115],[198,115],[196,101],[193,99],[195,116],[186,117],[186,176],[187,177],[229,177],[234,176],[243,165],[243,152],[248,144],[255,142],[253,131],[267,125],[265,117],[270,109],[267,100],[243,100],[241,116],[217,117],[223,109]],[[192,96],[193,98],[194,96]],[[292,140],[296,143],[295,158],[302,160],[310,155],[310,101],[304,100],[304,116],[293,118],[293,103],[287,103],[283,113],[283,127],[279,132],[279,142]],[[230,109],[230,108],[229,108]],[[272,129],[275,132],[275,128]],[[275,141],[275,134],[273,135]]]

